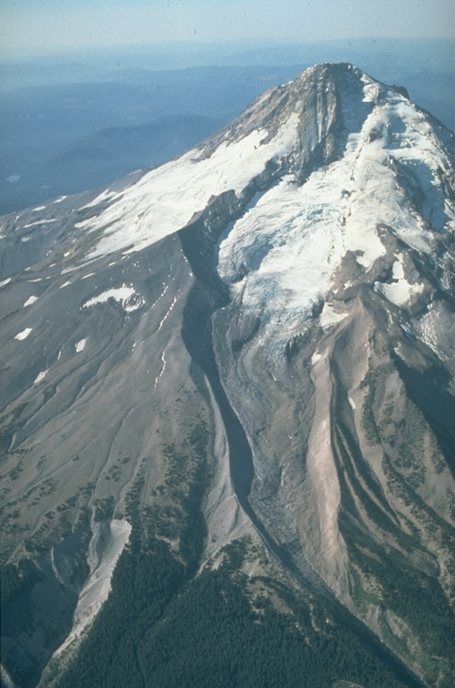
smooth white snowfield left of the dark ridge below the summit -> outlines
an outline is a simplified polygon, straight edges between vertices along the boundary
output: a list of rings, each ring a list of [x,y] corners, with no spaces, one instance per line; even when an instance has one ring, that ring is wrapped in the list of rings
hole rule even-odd
[[[125,192],[101,193],[90,206],[108,200],[107,210],[76,225],[103,230],[89,259],[119,250],[141,251],[185,227],[212,196],[230,189],[241,193],[270,159],[292,150],[297,125],[297,117],[291,116],[270,142],[262,144],[267,131],[255,131],[241,141],[221,144],[208,158],[203,157],[204,150],[191,150],[142,176]]]

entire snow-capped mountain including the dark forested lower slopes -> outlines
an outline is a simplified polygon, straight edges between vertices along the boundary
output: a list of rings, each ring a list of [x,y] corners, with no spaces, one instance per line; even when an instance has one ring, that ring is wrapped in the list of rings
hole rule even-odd
[[[3,218],[8,680],[451,685],[454,228],[351,64]]]

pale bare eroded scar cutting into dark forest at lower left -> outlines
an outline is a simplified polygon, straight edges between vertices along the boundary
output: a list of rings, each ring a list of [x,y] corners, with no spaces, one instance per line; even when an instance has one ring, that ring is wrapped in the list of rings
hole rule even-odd
[[[56,650],[55,656],[61,654],[80,637],[107,600],[112,574],[118,557],[130,538],[131,525],[126,520],[95,523],[92,533],[87,557],[90,576],[79,595],[73,616],[73,628],[63,645]]]

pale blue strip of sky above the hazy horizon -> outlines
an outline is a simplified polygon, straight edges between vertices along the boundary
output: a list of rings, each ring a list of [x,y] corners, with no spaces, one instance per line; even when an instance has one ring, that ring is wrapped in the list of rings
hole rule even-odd
[[[1,0],[0,44],[453,36],[453,0]]]

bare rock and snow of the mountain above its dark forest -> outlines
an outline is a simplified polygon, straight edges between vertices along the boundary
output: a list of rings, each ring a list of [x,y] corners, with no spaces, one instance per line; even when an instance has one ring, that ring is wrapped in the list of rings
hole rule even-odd
[[[403,599],[454,598],[453,175],[406,94],[317,65],[162,168],[5,218],[4,561],[133,518],[178,552],[199,476],[199,567],[261,539],[447,685]]]

